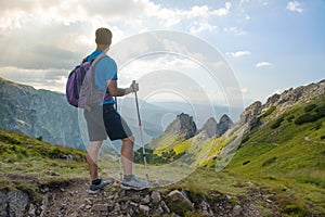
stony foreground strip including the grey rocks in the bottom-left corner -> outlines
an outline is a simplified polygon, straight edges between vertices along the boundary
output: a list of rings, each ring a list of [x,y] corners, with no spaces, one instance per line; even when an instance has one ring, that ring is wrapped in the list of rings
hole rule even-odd
[[[270,192],[233,197],[217,191],[196,195],[183,189],[126,191],[117,181],[98,194],[89,194],[88,188],[88,180],[81,178],[52,181],[36,190],[42,197],[38,202],[30,192],[0,191],[0,216],[264,216],[258,208],[261,203],[280,216],[275,203],[263,197]]]

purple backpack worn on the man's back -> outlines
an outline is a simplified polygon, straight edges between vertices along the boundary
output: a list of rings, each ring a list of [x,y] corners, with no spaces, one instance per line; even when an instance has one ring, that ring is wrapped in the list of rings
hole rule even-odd
[[[110,99],[108,89],[99,90],[94,84],[93,68],[105,56],[100,55],[92,61],[87,61],[86,58],[70,72],[66,84],[66,98],[69,104],[90,110],[92,105]]]

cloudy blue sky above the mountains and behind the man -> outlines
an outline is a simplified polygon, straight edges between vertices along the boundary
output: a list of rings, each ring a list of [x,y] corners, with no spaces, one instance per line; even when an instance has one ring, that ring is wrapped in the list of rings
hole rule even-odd
[[[247,106],[325,78],[324,0],[1,0],[0,10],[0,77],[37,89],[65,92],[69,72],[94,50],[99,27],[113,31],[112,58],[118,59],[131,42],[122,52],[133,53],[133,59],[117,61],[121,87],[152,74],[170,76],[168,94],[152,94],[152,85],[144,95],[151,100],[184,98],[182,90],[190,85],[182,80],[190,77],[197,81],[188,81],[197,86],[193,91],[230,103],[233,95],[224,75]],[[164,33],[174,37],[164,43],[162,53],[154,40],[142,41],[152,31],[159,41],[165,41]],[[192,39],[197,43],[190,43]],[[200,42],[202,53],[188,52]],[[203,61],[207,56],[199,56],[209,48],[217,51],[216,65],[226,68],[214,81],[209,78],[210,62]]]

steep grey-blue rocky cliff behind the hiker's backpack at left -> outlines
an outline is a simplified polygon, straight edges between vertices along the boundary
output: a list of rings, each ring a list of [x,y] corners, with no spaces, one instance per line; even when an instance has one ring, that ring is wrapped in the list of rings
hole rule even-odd
[[[78,112],[65,95],[0,78],[0,128],[82,149]]]

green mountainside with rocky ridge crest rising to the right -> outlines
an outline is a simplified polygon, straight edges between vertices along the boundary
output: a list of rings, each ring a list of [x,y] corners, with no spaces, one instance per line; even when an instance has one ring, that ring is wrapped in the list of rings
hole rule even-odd
[[[240,120],[221,137],[199,133],[166,143],[154,140],[150,163],[182,162],[222,170],[276,192],[287,213],[325,214],[325,97],[324,81],[275,94],[253,103]],[[150,144],[151,145],[151,144]],[[161,151],[162,150],[162,151]]]

